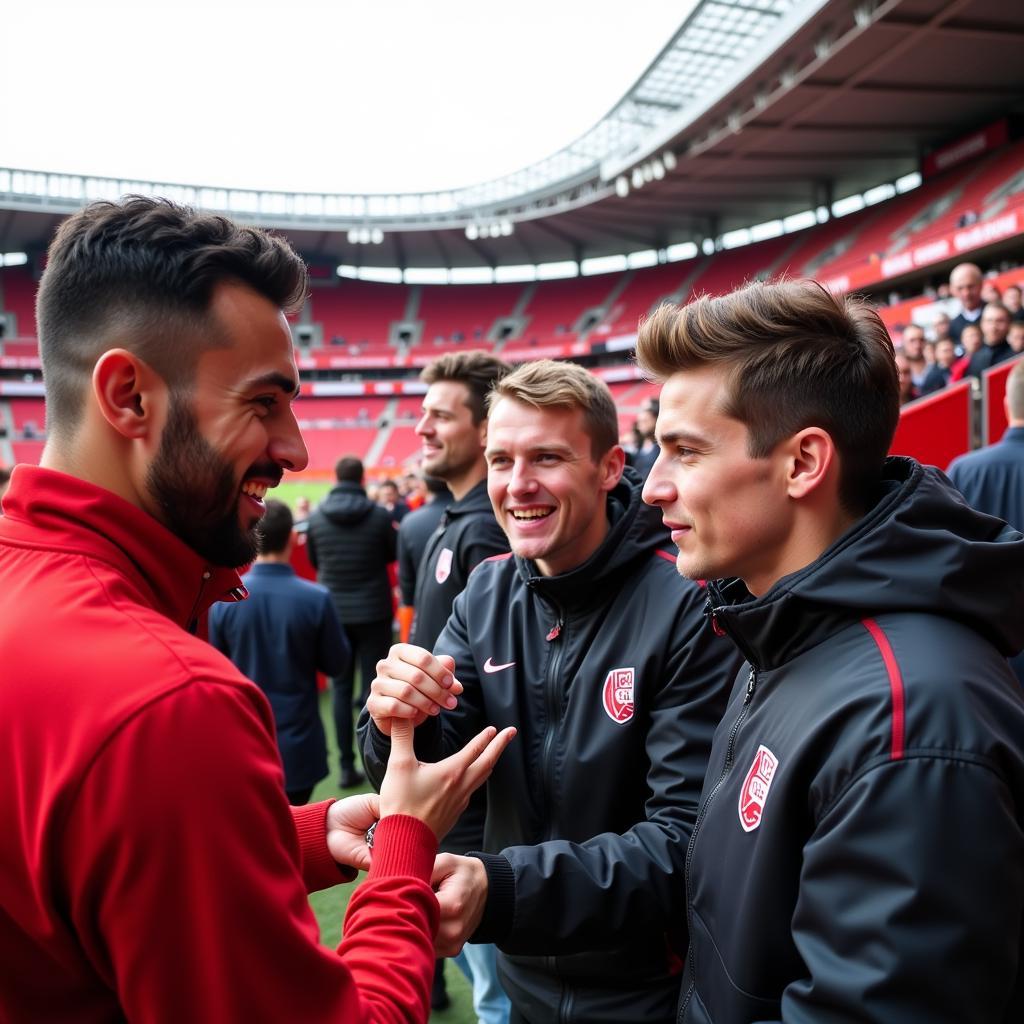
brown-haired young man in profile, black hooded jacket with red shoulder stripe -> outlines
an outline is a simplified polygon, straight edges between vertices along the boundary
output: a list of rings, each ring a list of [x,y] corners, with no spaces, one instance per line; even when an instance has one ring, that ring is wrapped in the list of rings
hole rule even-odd
[[[888,459],[866,304],[752,285],[642,326],[644,488],[742,651],[686,871],[679,1021],[1024,1014],[1024,538]]]

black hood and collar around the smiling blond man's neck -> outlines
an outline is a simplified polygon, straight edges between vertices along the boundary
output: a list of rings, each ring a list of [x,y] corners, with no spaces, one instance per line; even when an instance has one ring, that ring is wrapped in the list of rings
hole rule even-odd
[[[631,571],[638,558],[653,556],[656,550],[671,547],[662,515],[643,504],[642,489],[640,474],[627,466],[622,479],[608,493],[605,505],[608,532],[597,551],[574,569],[555,577],[542,575],[536,562],[516,557],[519,575],[527,586],[559,604],[578,604],[589,596],[604,600],[600,594],[602,587],[615,586],[620,573]],[[675,555],[672,560],[675,561]]]

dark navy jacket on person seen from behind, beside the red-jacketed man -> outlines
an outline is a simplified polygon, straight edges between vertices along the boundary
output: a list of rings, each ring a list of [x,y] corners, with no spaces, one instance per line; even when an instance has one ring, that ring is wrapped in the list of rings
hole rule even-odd
[[[300,580],[290,565],[257,562],[245,584],[247,600],[210,609],[210,643],[266,694],[285,788],[304,790],[327,775],[316,672],[341,675],[348,641],[327,589]]]

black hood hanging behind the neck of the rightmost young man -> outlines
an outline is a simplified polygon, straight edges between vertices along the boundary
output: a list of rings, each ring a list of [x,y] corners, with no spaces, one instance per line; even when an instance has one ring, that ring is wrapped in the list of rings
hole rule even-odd
[[[971,508],[934,467],[891,458],[878,502],[820,557],[760,598],[739,580],[715,581],[709,606],[762,669],[892,611],[956,620],[1010,655],[1024,646],[1024,537]]]

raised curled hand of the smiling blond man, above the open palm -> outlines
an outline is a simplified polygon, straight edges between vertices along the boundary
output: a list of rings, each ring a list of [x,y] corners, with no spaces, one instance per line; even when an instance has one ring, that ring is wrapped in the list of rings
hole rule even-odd
[[[387,657],[377,663],[367,711],[377,728],[390,736],[395,719],[419,725],[431,715],[455,708],[460,693],[462,684],[455,678],[451,657],[435,657],[423,647],[396,643]]]

